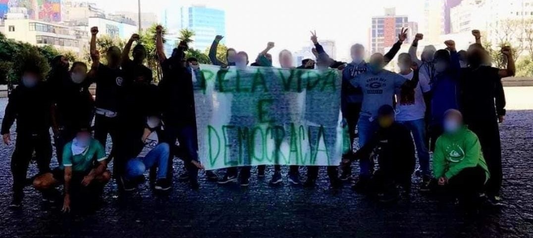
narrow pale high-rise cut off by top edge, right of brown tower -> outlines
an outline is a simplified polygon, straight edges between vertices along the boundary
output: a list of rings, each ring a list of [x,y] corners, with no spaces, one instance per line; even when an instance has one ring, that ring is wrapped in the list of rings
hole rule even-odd
[[[440,36],[446,29],[446,3],[445,0],[424,0],[424,21],[420,22],[424,34],[424,41],[438,44]]]

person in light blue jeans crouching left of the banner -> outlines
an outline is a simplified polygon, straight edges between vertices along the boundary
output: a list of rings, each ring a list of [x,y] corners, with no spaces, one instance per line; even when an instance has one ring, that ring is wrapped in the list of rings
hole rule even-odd
[[[154,188],[160,191],[169,190],[171,181],[167,179],[169,167],[170,145],[166,132],[161,124],[161,118],[157,115],[149,116],[140,139],[136,139],[130,145],[132,154],[136,154],[126,163],[124,190],[135,189],[134,180],[143,176],[144,171],[157,168],[157,180]]]

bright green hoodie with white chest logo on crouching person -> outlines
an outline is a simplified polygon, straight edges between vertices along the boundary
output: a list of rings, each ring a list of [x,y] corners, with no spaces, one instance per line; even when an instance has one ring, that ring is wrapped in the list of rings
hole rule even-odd
[[[490,174],[487,163],[481,153],[478,136],[466,126],[455,134],[442,134],[435,144],[433,153],[433,175],[435,178],[445,176],[450,179],[464,168],[481,166],[485,170],[486,180]]]

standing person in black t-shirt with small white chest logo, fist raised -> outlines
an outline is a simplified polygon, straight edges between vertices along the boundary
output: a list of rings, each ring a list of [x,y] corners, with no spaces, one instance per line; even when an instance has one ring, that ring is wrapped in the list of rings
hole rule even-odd
[[[111,136],[112,149],[109,159],[115,156],[115,145],[118,143],[118,102],[124,91],[125,74],[120,69],[122,52],[117,46],[107,49],[107,65],[100,63],[100,52],[96,50],[98,27],[91,28],[91,70],[87,74],[87,85],[96,83],[96,100],[94,116],[94,138],[102,145],[107,144],[108,134]]]

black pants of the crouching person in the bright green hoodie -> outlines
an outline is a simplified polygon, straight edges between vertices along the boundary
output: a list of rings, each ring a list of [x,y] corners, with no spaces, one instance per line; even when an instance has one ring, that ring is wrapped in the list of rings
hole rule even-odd
[[[450,178],[447,185],[437,185],[437,193],[445,197],[470,201],[483,192],[486,178],[485,170],[479,166],[465,168]],[[434,184],[437,184],[437,181],[434,181]]]

